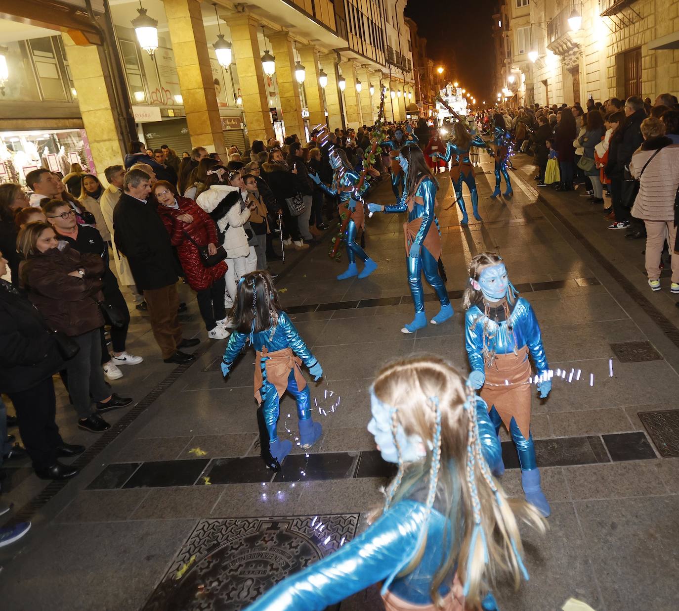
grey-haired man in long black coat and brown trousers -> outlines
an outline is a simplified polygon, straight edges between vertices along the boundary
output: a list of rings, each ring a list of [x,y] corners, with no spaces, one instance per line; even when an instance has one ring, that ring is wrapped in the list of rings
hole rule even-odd
[[[195,346],[199,340],[181,336],[176,285],[181,269],[162,220],[147,204],[151,194],[149,175],[141,170],[128,171],[123,190],[113,211],[115,245],[128,258],[134,281],[144,294],[163,360],[187,363],[194,357],[181,348]]]

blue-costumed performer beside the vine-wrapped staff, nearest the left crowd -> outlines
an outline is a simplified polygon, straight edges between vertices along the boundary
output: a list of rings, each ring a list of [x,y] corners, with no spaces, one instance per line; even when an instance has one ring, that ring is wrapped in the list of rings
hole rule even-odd
[[[332,186],[324,185],[317,174],[310,174],[309,176],[330,196],[335,197],[339,195],[339,217],[341,219],[342,230],[346,236],[346,258],[349,266],[345,272],[337,276],[337,280],[346,280],[356,275],[359,278],[367,278],[378,268],[378,264],[367,256],[365,250],[356,242],[359,232],[365,230],[363,203],[356,201],[356,194],[354,192],[354,189],[357,189],[361,184],[361,177],[352,170],[346,158],[346,153],[341,149],[333,148],[331,150],[330,163],[335,171]],[[363,195],[368,188],[369,184],[367,181],[364,181],[363,187],[359,190],[359,195]],[[346,229],[344,228],[345,222]],[[359,273],[359,269],[356,267],[356,257],[365,264],[361,273]]]

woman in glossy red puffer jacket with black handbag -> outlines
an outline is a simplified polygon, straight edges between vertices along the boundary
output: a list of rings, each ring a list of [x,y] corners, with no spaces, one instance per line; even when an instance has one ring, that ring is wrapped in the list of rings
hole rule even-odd
[[[226,330],[224,307],[227,266],[223,261],[212,267],[204,266],[198,250],[198,246],[207,246],[208,252],[215,254],[221,245],[215,222],[194,200],[179,197],[175,186],[168,181],[161,180],[153,185],[153,194],[160,204],[158,214],[170,234],[170,241],[177,247],[186,281],[196,291],[198,309],[205,321],[208,337],[227,338],[229,332]]]

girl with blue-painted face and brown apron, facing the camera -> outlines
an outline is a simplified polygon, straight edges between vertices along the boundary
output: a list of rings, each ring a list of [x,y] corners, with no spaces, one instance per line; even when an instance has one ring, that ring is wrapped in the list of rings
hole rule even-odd
[[[549,365],[540,325],[530,303],[509,281],[502,258],[481,253],[469,264],[469,287],[462,297],[466,309],[465,344],[472,372],[469,382],[481,389],[490,406],[496,430],[504,423],[519,453],[521,484],[526,500],[543,516],[549,503],[540,488],[540,470],[530,434],[531,369],[528,355],[538,372],[540,398],[551,391]],[[504,466],[496,472],[500,475]]]

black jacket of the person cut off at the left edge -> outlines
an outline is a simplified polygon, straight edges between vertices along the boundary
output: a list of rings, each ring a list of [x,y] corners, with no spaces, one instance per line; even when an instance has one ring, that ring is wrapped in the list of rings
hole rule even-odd
[[[0,392],[27,390],[63,365],[54,336],[26,293],[0,280]]]

